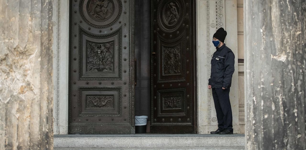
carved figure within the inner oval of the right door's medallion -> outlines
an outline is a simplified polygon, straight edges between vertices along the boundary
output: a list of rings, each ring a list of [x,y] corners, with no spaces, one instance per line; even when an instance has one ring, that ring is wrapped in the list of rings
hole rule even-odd
[[[172,26],[177,23],[180,17],[180,11],[177,2],[168,3],[163,10],[163,20],[168,26]]]

